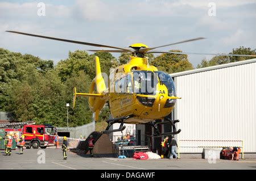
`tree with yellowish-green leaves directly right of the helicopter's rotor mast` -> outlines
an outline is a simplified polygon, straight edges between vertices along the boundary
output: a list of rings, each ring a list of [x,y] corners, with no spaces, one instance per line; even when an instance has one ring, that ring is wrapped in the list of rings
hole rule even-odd
[[[171,52],[181,52],[181,50],[170,50]],[[155,57],[151,64],[156,66],[160,71],[175,73],[179,71],[193,69],[192,64],[188,61],[187,54],[163,53]]]

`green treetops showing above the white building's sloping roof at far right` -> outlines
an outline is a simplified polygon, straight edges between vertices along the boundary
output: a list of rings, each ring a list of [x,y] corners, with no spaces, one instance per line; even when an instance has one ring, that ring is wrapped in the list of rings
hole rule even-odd
[[[251,48],[245,48],[245,47],[240,47],[240,48],[234,48],[232,52],[229,54],[251,54],[255,55],[256,54],[256,49],[251,50]],[[221,65],[221,64],[228,64],[230,62],[237,62],[237,61],[242,61],[242,60],[248,60],[253,57],[237,57],[237,56],[214,56],[211,60],[207,60],[204,58],[200,64],[197,65],[196,68],[205,68],[208,66],[214,66],[214,65]]]

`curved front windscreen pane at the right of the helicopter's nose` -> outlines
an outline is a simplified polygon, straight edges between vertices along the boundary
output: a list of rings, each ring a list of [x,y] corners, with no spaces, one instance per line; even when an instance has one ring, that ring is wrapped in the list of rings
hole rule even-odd
[[[168,89],[168,96],[176,96],[175,85],[172,77],[163,71],[155,71],[159,81],[162,82]]]

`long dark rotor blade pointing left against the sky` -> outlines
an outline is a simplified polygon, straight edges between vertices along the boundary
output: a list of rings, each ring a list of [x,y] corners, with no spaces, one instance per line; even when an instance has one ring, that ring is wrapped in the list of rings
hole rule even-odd
[[[82,41],[74,41],[74,40],[67,40],[67,39],[59,39],[59,38],[56,38],[56,37],[34,35],[34,34],[30,34],[30,33],[18,32],[18,31],[6,31],[6,32],[17,33],[17,34],[27,35],[27,36],[35,36],[35,37],[40,37],[40,38],[43,38],[43,39],[51,39],[51,40],[65,41],[65,42],[75,43],[75,44],[89,45],[89,46],[93,46],[93,47],[115,48],[115,49],[121,49],[121,50],[127,50],[127,49],[128,49],[128,48],[112,47],[112,46],[108,46],[108,45],[101,45],[101,44],[88,43],[88,42],[82,42]],[[128,49],[128,50],[129,50],[129,49]]]

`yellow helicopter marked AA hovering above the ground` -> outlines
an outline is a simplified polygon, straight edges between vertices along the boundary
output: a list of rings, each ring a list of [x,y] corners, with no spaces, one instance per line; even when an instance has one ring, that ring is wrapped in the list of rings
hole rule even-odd
[[[195,39],[179,41],[152,48],[149,48],[147,45],[142,43],[135,43],[130,45],[128,48],[122,48],[17,31],[7,32],[65,41],[69,43],[90,45],[93,47],[113,48],[107,50],[89,50],[92,52],[129,52],[132,54],[132,56],[130,56],[130,61],[127,64],[110,70],[109,78],[102,76],[104,74],[101,73],[100,60],[96,56],[96,76],[90,85],[89,93],[80,93],[76,91],[76,87],[74,88],[73,107],[75,107],[77,96],[88,96],[89,107],[93,112],[94,120],[98,120],[101,109],[104,107],[106,101],[109,100],[110,112],[113,118],[106,120],[108,122],[108,127],[104,133],[123,131],[123,129],[125,129],[125,125],[123,125],[124,123],[151,125],[155,129],[155,133],[152,135],[155,137],[180,133],[181,129],[176,131],[175,127],[175,123],[179,122],[179,120],[171,120],[168,116],[174,109],[176,99],[181,99],[176,96],[174,81],[169,74],[164,73],[163,71],[158,71],[155,66],[149,65],[148,58],[145,56],[146,53],[209,54],[217,56],[255,57],[255,55],[251,56],[241,54],[186,53],[154,50],[160,47],[201,40],[204,39],[204,37],[197,37]],[[119,128],[109,130],[110,126],[115,123],[121,123]],[[159,124],[171,124],[172,131],[161,134],[158,129]]]

